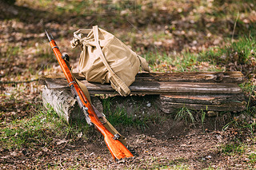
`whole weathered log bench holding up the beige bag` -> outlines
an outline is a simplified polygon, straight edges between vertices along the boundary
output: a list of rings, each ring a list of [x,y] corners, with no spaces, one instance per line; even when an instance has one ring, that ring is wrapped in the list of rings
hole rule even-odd
[[[94,94],[118,95],[110,85],[90,83],[74,73]],[[246,109],[245,97],[238,83],[243,81],[241,72],[197,72],[197,73],[138,73],[130,85],[131,95],[156,95],[155,102],[164,113],[176,109],[240,112]],[[42,77],[44,103],[50,103],[66,121],[82,117],[70,88],[62,74]],[[97,101],[98,107],[102,107]],[[62,108],[59,109],[59,108]]]

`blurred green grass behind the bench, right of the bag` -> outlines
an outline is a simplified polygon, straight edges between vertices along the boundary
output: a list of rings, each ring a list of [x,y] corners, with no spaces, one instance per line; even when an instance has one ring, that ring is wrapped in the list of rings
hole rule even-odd
[[[169,35],[154,34],[154,39],[158,41],[162,38],[168,39]],[[211,47],[199,53],[182,51],[181,53],[170,53],[155,47],[154,51],[144,53],[153,71],[161,72],[185,72],[185,71],[223,71],[226,65],[250,65],[256,66],[256,38],[254,32],[243,35],[238,39],[224,38],[226,45]],[[134,44],[134,40],[132,42]],[[242,72],[247,69],[242,67]]]

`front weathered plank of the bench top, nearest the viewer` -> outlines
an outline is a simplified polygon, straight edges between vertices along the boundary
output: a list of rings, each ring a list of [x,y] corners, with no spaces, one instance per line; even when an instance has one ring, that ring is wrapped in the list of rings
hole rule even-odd
[[[48,89],[68,88],[63,79],[46,79]],[[110,85],[89,83],[82,81],[90,93],[115,93]],[[236,84],[225,83],[198,83],[172,81],[141,81],[130,85],[131,94],[164,94],[164,93],[242,93]]]

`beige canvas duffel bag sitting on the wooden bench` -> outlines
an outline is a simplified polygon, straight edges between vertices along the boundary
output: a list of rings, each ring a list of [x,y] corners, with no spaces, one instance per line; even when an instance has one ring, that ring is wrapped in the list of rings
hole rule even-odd
[[[87,81],[110,83],[120,95],[130,94],[128,88],[134,81],[140,65],[145,71],[149,66],[113,34],[93,26],[74,32],[72,48],[81,47],[79,72]]]

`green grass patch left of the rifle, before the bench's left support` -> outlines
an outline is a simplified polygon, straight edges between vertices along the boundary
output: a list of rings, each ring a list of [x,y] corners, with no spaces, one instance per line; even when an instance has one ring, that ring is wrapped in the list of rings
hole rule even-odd
[[[30,117],[6,123],[5,127],[0,129],[0,144],[7,149],[51,146],[53,140],[76,140],[79,133],[86,134],[88,131],[87,125],[67,125],[53,109],[44,109],[41,106],[38,112]],[[83,138],[87,139],[86,135],[83,135]]]

